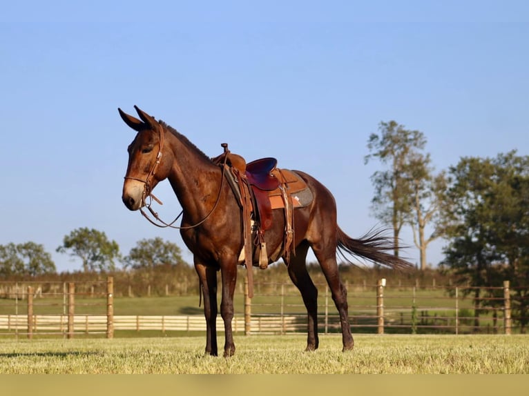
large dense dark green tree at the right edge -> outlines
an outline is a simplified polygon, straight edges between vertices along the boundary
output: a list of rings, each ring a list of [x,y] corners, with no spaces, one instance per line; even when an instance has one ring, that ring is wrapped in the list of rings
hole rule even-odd
[[[479,308],[485,286],[501,286],[509,279],[517,293],[514,310],[526,326],[529,301],[529,157],[516,151],[495,158],[465,157],[450,168],[450,183],[443,208],[445,246],[443,266],[475,286],[474,309]],[[482,290],[483,289],[483,290]],[[487,303],[489,305],[494,304]]]

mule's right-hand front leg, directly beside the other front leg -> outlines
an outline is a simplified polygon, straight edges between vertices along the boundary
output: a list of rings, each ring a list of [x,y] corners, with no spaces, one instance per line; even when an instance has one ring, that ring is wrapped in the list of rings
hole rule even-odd
[[[251,268],[249,269],[251,270]],[[224,357],[233,356],[235,344],[231,331],[231,320],[233,319],[233,293],[237,281],[237,265],[235,260],[224,266],[222,273],[222,300],[220,301],[220,315],[224,320]]]

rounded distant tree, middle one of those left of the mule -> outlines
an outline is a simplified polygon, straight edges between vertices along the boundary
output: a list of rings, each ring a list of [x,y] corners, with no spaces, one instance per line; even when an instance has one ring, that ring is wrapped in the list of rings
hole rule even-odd
[[[66,235],[63,244],[57,248],[59,253],[69,253],[79,257],[85,273],[90,271],[107,272],[115,270],[115,260],[119,259],[119,246],[110,241],[102,231],[77,228]]]

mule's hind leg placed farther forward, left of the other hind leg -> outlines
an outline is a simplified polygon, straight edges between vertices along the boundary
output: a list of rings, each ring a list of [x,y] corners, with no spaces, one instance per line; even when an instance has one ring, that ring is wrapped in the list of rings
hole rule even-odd
[[[318,340],[318,289],[314,286],[312,279],[305,266],[305,258],[309,245],[303,242],[296,248],[296,255],[290,256],[287,263],[290,279],[300,290],[303,303],[307,308],[307,348],[306,350],[316,350],[319,345]]]

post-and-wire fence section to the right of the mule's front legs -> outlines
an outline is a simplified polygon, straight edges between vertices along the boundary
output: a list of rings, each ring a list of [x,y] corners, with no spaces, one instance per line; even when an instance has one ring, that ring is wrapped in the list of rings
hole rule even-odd
[[[318,330],[340,331],[340,319],[327,284],[318,284]],[[245,317],[276,317],[275,333],[305,332],[306,311],[298,290],[291,284],[260,284],[253,299],[245,299]],[[501,287],[347,285],[349,321],[354,333],[504,333],[523,331],[512,324],[509,281]],[[518,301],[519,302],[519,301]],[[287,326],[282,317],[296,321]],[[519,317],[519,321],[528,318]],[[259,333],[247,326],[245,333]],[[270,328],[269,330],[272,330]]]

